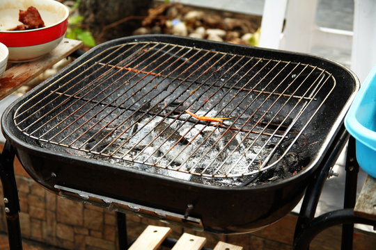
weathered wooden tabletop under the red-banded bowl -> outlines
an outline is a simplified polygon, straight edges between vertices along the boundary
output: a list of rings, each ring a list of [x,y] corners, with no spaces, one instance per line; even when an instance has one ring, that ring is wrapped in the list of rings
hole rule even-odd
[[[82,45],[81,41],[64,38],[58,47],[38,60],[28,63],[8,62],[6,72],[0,76],[0,100],[15,92],[22,85],[29,83],[72,52],[80,49]]]

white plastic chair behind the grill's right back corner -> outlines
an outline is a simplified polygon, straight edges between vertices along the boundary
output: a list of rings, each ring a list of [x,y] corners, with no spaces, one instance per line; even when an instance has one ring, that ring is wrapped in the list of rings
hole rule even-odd
[[[315,46],[351,51],[351,68],[362,82],[376,64],[376,1],[354,0],[353,31],[318,27],[317,4],[317,0],[265,0],[259,46],[304,53]]]

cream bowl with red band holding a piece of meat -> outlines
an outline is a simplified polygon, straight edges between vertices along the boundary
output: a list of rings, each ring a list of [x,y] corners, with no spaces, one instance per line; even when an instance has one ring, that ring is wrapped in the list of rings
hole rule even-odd
[[[45,27],[26,31],[8,31],[22,24],[19,10],[37,8]],[[10,62],[36,60],[52,51],[63,40],[68,27],[69,10],[54,0],[1,0],[0,42],[9,49]]]

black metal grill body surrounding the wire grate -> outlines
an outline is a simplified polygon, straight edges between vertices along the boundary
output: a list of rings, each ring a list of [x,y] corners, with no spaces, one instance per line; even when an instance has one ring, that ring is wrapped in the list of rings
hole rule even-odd
[[[303,123],[304,137],[311,142],[311,146],[307,147],[309,163],[297,174],[275,183],[215,186],[123,167],[97,158],[82,157],[77,151],[68,152],[59,145],[57,147],[61,147],[61,150],[49,149],[45,147],[48,140],[40,141],[19,128],[17,113],[20,109],[27,110],[24,103],[33,103],[36,96],[53,88],[65,74],[72,74],[77,68],[86,67],[86,63],[98,53],[119,44],[135,42],[178,44],[237,56],[306,64],[329,72],[336,83],[331,85],[330,94],[315,97],[322,100],[322,105],[315,111],[313,119],[312,112],[301,117],[301,120],[306,121]],[[1,126],[26,171],[38,183],[56,194],[206,231],[245,233],[276,222],[296,206],[312,174],[320,171],[324,156],[335,143],[345,113],[358,88],[359,83],[352,72],[324,58],[169,35],[134,36],[100,44],[84,53],[61,72],[9,106],[1,119]],[[299,124],[298,122],[297,125]]]

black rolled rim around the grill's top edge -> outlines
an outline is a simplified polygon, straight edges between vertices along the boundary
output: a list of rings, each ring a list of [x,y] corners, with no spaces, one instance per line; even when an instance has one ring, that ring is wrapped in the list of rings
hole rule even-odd
[[[131,37],[128,37],[128,38],[118,38],[116,40],[104,42],[103,47],[107,47],[107,46],[112,45],[112,44],[115,44],[115,45],[119,44],[120,42],[124,42],[125,39],[126,40],[132,40],[133,42],[156,42],[156,40],[161,41],[160,40],[161,38],[162,38],[162,40],[164,39],[164,41],[162,41],[162,42],[167,42],[167,43],[171,43],[171,44],[173,44],[173,40],[178,39],[180,41],[181,40],[189,40],[189,41],[200,42],[200,43],[205,42],[206,44],[212,45],[212,47],[214,47],[214,48],[224,46],[224,44],[221,43],[221,42],[212,42],[212,41],[207,42],[207,41],[193,39],[193,38],[183,38],[183,37],[179,37],[179,36],[175,36],[175,35],[136,35],[136,36],[131,36]],[[141,41],[138,41],[138,40],[141,40]],[[240,48],[240,49],[243,49],[243,48],[249,49],[248,46],[243,46],[243,45],[238,45],[238,44],[228,44],[228,45],[226,44],[225,46],[228,46],[228,47],[231,47],[231,48],[234,47],[234,48]],[[194,47],[194,45],[191,45],[191,47]],[[207,48],[205,48],[205,49],[207,49]],[[162,176],[160,174],[153,174],[153,173],[149,173],[149,172],[144,172],[144,171],[139,170],[139,169],[124,168],[124,167],[114,165],[114,164],[111,164],[111,163],[105,163],[105,162],[102,162],[102,161],[83,158],[83,157],[80,157],[80,156],[72,156],[68,153],[65,154],[65,153],[60,153],[60,152],[57,152],[57,151],[46,152],[46,150],[42,150],[42,148],[40,148],[40,147],[35,147],[32,144],[25,142],[26,140],[21,140],[17,135],[12,133],[10,131],[10,127],[15,126],[15,124],[13,122],[13,115],[15,113],[15,110],[17,110],[17,108],[19,108],[19,106],[21,106],[24,101],[28,100],[29,97],[32,97],[34,92],[38,92],[40,89],[45,88],[45,85],[51,84],[53,81],[58,80],[58,78],[62,75],[61,72],[65,72],[65,69],[70,68],[70,67],[75,69],[74,66],[79,65],[81,63],[82,58],[90,58],[91,54],[93,54],[93,53],[96,54],[97,49],[95,47],[92,48],[91,50],[89,50],[88,52],[86,52],[83,56],[77,58],[73,63],[65,66],[63,69],[61,69],[60,73],[55,74],[54,76],[47,78],[43,83],[38,85],[36,88],[33,88],[33,90],[29,91],[23,97],[20,97],[13,104],[8,106],[8,108],[4,112],[4,115],[1,119],[1,125],[2,125],[1,129],[2,129],[3,134],[5,135],[6,139],[10,140],[11,144],[14,144],[16,148],[17,148],[17,146],[19,146],[19,147],[26,149],[28,151],[29,150],[36,151],[40,155],[47,156],[47,158],[49,158],[49,156],[51,156],[51,157],[59,156],[63,160],[64,159],[65,160],[70,159],[70,160],[75,160],[75,161],[81,162],[81,163],[88,162],[88,163],[95,164],[95,165],[98,165],[98,163],[100,163],[99,165],[103,165],[103,166],[106,166],[106,167],[113,167],[115,169],[120,169],[120,170],[125,170],[125,171],[130,170],[131,172],[135,172],[137,174],[147,174],[147,175],[154,176],[154,177],[162,177],[162,179],[167,178],[167,179],[170,179],[171,181],[183,182],[183,183],[186,183],[187,185],[198,185],[198,186],[203,186],[203,187],[206,187],[206,188],[220,188],[222,190],[223,189],[233,190],[233,188],[238,188],[238,189],[252,188],[254,190],[255,189],[257,190],[258,188],[263,189],[263,188],[272,188],[276,185],[285,185],[285,183],[291,183],[291,181],[299,178],[300,176],[306,176],[306,174],[313,172],[313,170],[315,170],[318,167],[318,165],[320,165],[324,154],[327,153],[328,145],[330,145],[333,142],[336,133],[340,129],[341,123],[343,123],[343,119],[345,117],[345,114],[347,113],[348,108],[350,108],[350,104],[352,103],[352,100],[354,99],[355,95],[357,94],[357,90],[359,90],[360,83],[359,83],[357,76],[353,72],[351,72],[350,69],[347,69],[347,68],[343,67],[343,65],[340,65],[339,63],[336,63],[335,61],[327,59],[327,58],[322,58],[320,56],[314,56],[314,55],[310,55],[310,54],[307,54],[307,53],[280,51],[280,50],[274,50],[274,49],[264,49],[264,48],[257,48],[257,47],[252,47],[252,49],[253,49],[253,51],[256,51],[256,52],[259,51],[261,53],[263,53],[264,51],[269,51],[269,52],[272,52],[272,53],[276,53],[276,52],[277,53],[287,53],[288,55],[291,55],[291,56],[298,56],[298,57],[303,56],[305,58],[312,58],[313,60],[324,60],[331,65],[334,65],[336,67],[340,67],[341,69],[344,69],[347,72],[347,74],[350,74],[350,76],[352,76],[352,78],[354,79],[354,88],[352,90],[352,94],[350,94],[350,97],[347,99],[347,101],[346,101],[345,105],[342,107],[342,110],[340,111],[340,113],[338,113],[336,121],[333,122],[331,129],[328,131],[328,133],[325,137],[325,140],[323,140],[323,142],[320,146],[320,150],[318,151],[318,153],[316,153],[316,157],[311,159],[309,164],[306,165],[306,167],[304,167],[304,169],[302,169],[297,175],[290,176],[289,178],[281,179],[281,180],[279,180],[275,183],[263,183],[262,185],[246,186],[246,187],[241,187],[241,186],[236,186],[236,187],[235,186],[231,186],[231,187],[214,186],[213,187],[212,185],[195,183],[193,181],[186,181],[186,180],[182,180],[180,178],[175,178],[175,177],[171,177],[171,176]],[[212,49],[212,50],[217,51],[216,49]],[[234,54],[239,55],[239,53],[232,52],[232,51],[230,51],[229,53],[234,53]],[[255,57],[258,57],[258,56],[256,55]],[[260,56],[260,58],[263,58],[263,56]],[[272,58],[272,60],[275,60],[275,59]],[[290,61],[292,63],[299,63],[299,61],[297,59],[290,60]],[[327,69],[325,69],[325,70],[327,70]],[[8,115],[6,115],[6,114],[8,114]],[[5,124],[7,124],[7,125],[5,125]],[[24,135],[22,135],[22,138],[23,137],[24,137]]]

